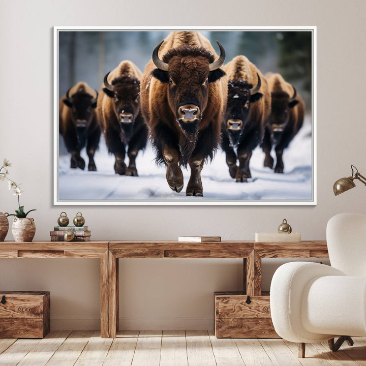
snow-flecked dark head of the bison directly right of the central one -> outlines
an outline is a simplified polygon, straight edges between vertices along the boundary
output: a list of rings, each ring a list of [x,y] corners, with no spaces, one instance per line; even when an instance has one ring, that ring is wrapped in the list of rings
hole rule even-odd
[[[229,80],[228,82],[228,102],[225,113],[225,124],[229,134],[230,142],[236,146],[243,133],[251,108],[251,104],[263,97],[258,93],[261,87],[261,79],[257,73],[258,83],[255,87],[244,80]]]

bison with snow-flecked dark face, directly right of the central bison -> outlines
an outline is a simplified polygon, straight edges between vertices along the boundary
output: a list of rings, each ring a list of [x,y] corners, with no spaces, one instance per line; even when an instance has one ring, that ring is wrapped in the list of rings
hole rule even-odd
[[[246,182],[251,177],[252,151],[263,140],[270,114],[270,94],[265,78],[247,57],[234,57],[224,70],[228,76],[228,99],[222,148],[230,176],[237,182]]]

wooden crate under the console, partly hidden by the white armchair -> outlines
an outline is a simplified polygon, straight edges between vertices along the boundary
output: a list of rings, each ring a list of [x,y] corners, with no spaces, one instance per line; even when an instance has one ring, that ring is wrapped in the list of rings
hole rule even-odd
[[[217,338],[280,338],[272,324],[269,293],[250,296],[243,292],[215,292]]]

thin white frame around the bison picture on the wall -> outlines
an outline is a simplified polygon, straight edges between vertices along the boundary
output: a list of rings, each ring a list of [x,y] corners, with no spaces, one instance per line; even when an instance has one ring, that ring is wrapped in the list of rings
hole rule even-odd
[[[184,191],[177,194],[177,198],[168,199],[78,199],[77,197],[66,198],[60,197],[60,137],[58,132],[58,103],[60,98],[59,93],[59,34],[60,32],[167,32],[167,31],[199,31],[199,32],[311,32],[312,46],[311,46],[311,58],[312,58],[312,80],[311,80],[311,179],[309,187],[311,195],[309,199],[209,199],[205,195],[203,197],[185,197]],[[316,69],[316,42],[317,42],[317,29],[316,26],[212,26],[212,27],[120,27],[120,26],[54,26],[53,41],[54,41],[54,148],[53,148],[53,203],[54,205],[316,205],[317,204],[317,149],[316,149],[316,133],[317,133],[317,69]],[[215,45],[216,46],[216,45]],[[217,46],[215,47],[217,49]],[[151,49],[151,52],[153,49]],[[228,59],[229,60],[229,59]],[[141,70],[143,72],[143,70]],[[100,85],[96,85],[99,88]],[[152,164],[152,163],[151,163]],[[204,169],[203,169],[204,171]],[[273,173],[275,174],[275,173]],[[132,177],[131,177],[132,178]],[[118,179],[118,177],[116,177]],[[134,177],[133,179],[139,179]],[[165,179],[165,175],[164,175]],[[83,189],[87,189],[87,184],[83,184]],[[236,183],[233,185],[251,185],[248,183]],[[166,190],[170,190],[166,184]],[[233,186],[235,187],[235,186]],[[243,188],[243,190],[245,190]]]

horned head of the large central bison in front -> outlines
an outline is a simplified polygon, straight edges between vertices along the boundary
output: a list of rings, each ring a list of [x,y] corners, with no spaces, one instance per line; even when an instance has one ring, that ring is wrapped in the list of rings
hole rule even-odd
[[[152,75],[167,85],[167,99],[171,112],[189,141],[196,141],[198,124],[207,106],[209,84],[225,75],[220,69],[225,60],[225,50],[220,47],[220,57],[202,47],[181,46],[168,51],[161,60],[153,52],[157,69]]]

